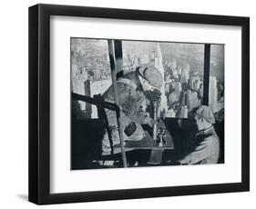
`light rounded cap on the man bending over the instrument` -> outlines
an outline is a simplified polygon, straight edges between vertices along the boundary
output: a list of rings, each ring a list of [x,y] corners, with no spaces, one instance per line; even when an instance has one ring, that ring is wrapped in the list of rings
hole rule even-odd
[[[163,77],[159,70],[153,66],[140,68],[140,75],[148,81],[149,85],[155,88],[160,88],[163,85]]]

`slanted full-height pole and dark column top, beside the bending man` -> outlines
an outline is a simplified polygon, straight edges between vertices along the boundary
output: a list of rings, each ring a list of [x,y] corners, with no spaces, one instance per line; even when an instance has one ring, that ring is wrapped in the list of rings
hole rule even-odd
[[[120,138],[123,164],[124,164],[124,167],[128,167],[125,144],[124,144],[124,137],[123,137],[123,130],[122,130],[122,126],[121,126],[122,122],[120,120],[120,112],[122,111],[122,107],[119,105],[119,101],[118,101],[118,87],[117,87],[117,82],[116,82],[117,73],[121,69],[122,62],[123,62],[121,41],[108,40],[108,54],[109,54],[109,61],[110,61],[110,68],[111,68],[114,99],[115,99],[115,103],[119,107],[119,112],[117,113],[117,121],[118,121],[118,134],[119,134],[119,138]]]

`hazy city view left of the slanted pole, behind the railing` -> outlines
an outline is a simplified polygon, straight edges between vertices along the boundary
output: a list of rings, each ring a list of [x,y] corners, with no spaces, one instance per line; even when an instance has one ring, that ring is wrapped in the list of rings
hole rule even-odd
[[[104,93],[111,85],[107,40],[71,39],[71,88],[79,95]],[[97,107],[73,101],[77,118],[97,118]]]

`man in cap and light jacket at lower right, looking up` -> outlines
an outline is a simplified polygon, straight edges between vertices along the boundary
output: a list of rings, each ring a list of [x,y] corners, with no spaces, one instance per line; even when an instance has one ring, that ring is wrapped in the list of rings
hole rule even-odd
[[[210,107],[201,105],[193,111],[197,134],[189,140],[189,153],[179,160],[180,164],[217,164],[220,154],[220,139],[213,124],[215,118]]]

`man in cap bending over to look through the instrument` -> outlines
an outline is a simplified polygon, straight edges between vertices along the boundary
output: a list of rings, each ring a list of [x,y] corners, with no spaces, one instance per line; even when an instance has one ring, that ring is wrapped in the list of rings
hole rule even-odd
[[[117,79],[118,106],[121,108],[120,121],[124,141],[139,141],[144,136],[141,124],[152,126],[153,119],[146,113],[148,95],[160,98],[159,88],[163,85],[162,75],[153,66],[138,67],[136,71],[122,75]],[[148,94],[150,92],[150,94]],[[113,85],[103,94],[106,102],[114,103]],[[111,145],[120,144],[118,122],[115,111],[106,109],[108,130],[106,130],[102,151],[109,152]],[[110,140],[109,140],[110,137]]]

